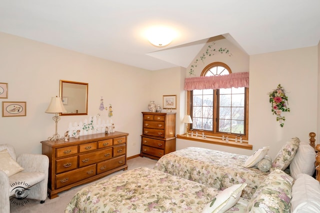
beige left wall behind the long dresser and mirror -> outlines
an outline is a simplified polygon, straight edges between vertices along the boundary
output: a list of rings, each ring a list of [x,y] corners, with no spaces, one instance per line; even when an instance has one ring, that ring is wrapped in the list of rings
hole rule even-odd
[[[107,111],[99,111],[101,96],[105,106],[112,104],[115,130],[129,133],[128,156],[140,152],[140,112],[153,98],[150,71],[5,33],[0,33],[0,46],[0,82],[8,83],[8,99],[0,101],[26,101],[27,111],[25,117],[0,117],[0,143],[12,144],[18,154],[41,153],[40,141],[55,130],[53,114],[44,111],[51,97],[59,95],[63,79],[89,84],[88,115],[107,119]],[[61,116],[58,133],[85,118]]]

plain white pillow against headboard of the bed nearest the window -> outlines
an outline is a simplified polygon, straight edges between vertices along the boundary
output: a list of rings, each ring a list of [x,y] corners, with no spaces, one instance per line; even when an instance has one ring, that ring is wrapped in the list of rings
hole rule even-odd
[[[297,175],[304,173],[312,176],[315,170],[315,152],[307,143],[300,143],[295,156],[290,163],[291,177],[296,179]]]

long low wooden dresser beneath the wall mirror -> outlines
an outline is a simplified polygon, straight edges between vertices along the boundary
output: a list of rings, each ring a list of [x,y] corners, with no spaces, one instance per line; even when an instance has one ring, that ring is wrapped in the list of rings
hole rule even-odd
[[[49,199],[72,187],[127,170],[127,133],[84,135],[69,141],[41,141],[49,158]]]

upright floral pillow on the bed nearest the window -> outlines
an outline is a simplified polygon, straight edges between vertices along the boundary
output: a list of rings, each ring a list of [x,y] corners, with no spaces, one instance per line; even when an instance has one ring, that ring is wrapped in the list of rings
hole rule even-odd
[[[291,138],[289,141],[287,141],[275,156],[270,171],[275,169],[279,169],[282,171],[285,170],[291,163],[299,147],[299,143],[300,140],[297,137]]]

